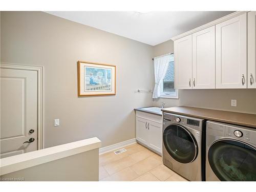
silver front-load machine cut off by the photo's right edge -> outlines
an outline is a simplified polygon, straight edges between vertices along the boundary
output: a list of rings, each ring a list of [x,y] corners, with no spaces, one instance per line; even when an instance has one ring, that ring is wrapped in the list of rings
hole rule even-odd
[[[256,181],[256,129],[206,122],[206,181]]]

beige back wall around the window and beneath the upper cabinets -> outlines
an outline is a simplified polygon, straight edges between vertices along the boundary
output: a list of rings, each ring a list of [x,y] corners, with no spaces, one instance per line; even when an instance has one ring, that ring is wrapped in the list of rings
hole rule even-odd
[[[154,56],[173,53],[173,45],[173,40],[168,40],[155,46]],[[231,99],[237,99],[236,107],[230,106]],[[256,114],[256,89],[179,90],[179,99],[153,99],[153,105],[161,102],[167,107],[186,105]]]

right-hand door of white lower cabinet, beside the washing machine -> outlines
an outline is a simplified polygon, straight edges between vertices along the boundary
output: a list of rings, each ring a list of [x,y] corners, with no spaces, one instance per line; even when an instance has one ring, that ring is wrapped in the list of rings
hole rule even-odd
[[[148,121],[148,146],[162,154],[162,124]]]

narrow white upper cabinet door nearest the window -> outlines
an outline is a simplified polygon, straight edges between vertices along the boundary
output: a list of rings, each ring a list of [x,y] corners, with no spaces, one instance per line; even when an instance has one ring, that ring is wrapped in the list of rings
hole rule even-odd
[[[192,35],[174,41],[175,89],[192,89]]]

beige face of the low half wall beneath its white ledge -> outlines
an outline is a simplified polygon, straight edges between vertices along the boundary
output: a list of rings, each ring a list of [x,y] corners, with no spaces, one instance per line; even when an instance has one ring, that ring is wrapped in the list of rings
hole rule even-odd
[[[2,181],[98,181],[99,149],[90,150],[1,176]],[[11,180],[10,180],[11,181]]]

